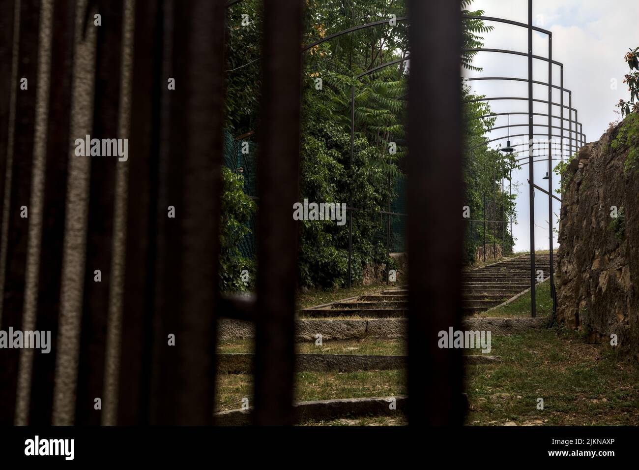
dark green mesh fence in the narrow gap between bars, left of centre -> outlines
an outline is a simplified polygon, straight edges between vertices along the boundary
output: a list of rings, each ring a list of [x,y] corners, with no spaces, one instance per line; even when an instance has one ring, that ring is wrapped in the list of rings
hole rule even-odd
[[[224,166],[244,177],[244,194],[251,198],[258,196],[256,150],[257,146],[253,141],[235,140],[228,131],[224,131]],[[250,233],[242,237],[238,249],[242,256],[253,258],[256,253],[256,214],[250,217],[246,226]]]

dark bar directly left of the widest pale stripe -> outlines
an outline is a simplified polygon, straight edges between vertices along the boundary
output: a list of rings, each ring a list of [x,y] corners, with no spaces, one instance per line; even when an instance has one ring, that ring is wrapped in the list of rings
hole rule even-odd
[[[51,332],[49,354],[34,354],[31,371],[29,425],[51,424],[58,343],[58,316],[65,237],[66,182],[68,173],[75,40],[75,2],[59,0],[53,9],[49,129],[42,209],[42,241],[38,275],[36,331]]]

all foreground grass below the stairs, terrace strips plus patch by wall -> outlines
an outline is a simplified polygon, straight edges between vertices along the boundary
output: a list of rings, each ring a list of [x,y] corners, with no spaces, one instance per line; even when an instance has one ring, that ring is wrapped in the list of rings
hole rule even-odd
[[[467,425],[639,425],[639,366],[612,349],[585,342],[566,329],[531,330],[491,338],[491,355],[500,363],[468,366]],[[250,341],[220,345],[221,352],[249,352]],[[402,340],[311,341],[299,352],[318,354],[403,354]],[[477,350],[465,350],[477,354]],[[406,394],[401,370],[296,373],[297,401]],[[252,375],[218,374],[217,406],[252,405]],[[543,398],[544,409],[537,409]],[[311,421],[304,425],[405,425],[402,416]]]

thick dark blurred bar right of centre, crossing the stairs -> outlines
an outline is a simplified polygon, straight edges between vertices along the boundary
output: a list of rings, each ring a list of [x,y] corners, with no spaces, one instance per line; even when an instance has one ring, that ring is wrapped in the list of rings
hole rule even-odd
[[[461,325],[461,13],[449,0],[411,0],[409,13],[408,419],[461,425],[461,349],[438,347],[438,332]]]

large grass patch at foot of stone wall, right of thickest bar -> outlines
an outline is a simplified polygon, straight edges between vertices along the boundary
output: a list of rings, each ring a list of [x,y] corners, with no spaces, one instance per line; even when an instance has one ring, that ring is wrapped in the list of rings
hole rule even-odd
[[[639,368],[612,350],[563,329],[495,336],[492,347],[501,363],[467,371],[468,425],[639,425]]]

